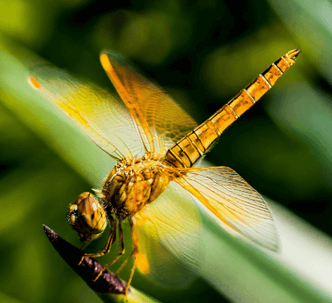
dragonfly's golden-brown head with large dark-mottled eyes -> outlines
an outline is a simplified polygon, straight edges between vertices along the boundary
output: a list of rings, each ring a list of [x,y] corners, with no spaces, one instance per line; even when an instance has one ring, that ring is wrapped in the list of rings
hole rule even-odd
[[[68,221],[85,242],[98,238],[107,226],[106,212],[88,192],[79,195],[69,206]]]

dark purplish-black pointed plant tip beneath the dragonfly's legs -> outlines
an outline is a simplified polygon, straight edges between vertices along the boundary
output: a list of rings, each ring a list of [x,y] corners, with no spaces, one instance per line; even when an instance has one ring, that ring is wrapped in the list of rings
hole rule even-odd
[[[57,250],[57,253],[81,276],[92,290],[113,295],[125,294],[126,283],[109,271],[104,271],[97,281],[93,281],[98,273],[100,273],[102,265],[91,257],[85,257],[83,262],[79,264],[84,255],[83,251],[66,242],[66,240],[59,237],[56,232],[49,229],[46,225],[43,225],[43,227],[48,240]]]

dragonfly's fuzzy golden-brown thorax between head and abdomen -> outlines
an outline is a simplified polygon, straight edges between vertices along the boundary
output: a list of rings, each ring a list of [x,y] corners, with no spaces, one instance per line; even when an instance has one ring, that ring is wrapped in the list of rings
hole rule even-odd
[[[106,177],[101,203],[119,220],[132,217],[152,203],[170,183],[163,173],[163,155],[154,154],[132,161],[121,160]]]

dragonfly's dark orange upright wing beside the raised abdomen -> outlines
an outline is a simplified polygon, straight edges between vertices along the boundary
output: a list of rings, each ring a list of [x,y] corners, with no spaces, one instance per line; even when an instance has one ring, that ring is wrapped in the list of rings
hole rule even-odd
[[[128,65],[124,57],[104,51],[100,61],[135,117],[149,152],[162,152],[197,126],[170,96]]]

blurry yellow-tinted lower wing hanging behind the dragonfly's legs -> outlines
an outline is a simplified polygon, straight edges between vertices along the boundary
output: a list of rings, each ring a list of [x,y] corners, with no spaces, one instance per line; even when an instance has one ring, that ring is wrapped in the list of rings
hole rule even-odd
[[[135,215],[140,243],[137,268],[146,277],[169,287],[183,287],[197,277],[202,260],[201,219],[197,205],[178,184]]]

